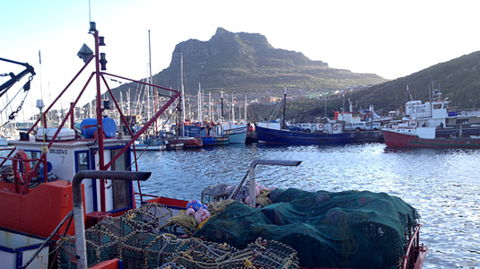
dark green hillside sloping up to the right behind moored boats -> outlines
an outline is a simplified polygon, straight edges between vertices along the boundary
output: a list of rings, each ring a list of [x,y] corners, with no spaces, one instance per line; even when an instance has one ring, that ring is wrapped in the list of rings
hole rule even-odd
[[[480,107],[480,51],[460,56],[445,63],[432,65],[415,74],[398,78],[394,81],[373,85],[367,90],[347,92],[345,98],[339,94],[327,100],[327,116],[333,117],[332,110],[348,108],[348,100],[354,109],[368,108],[373,105],[379,114],[403,108],[409,94],[414,100],[429,100],[429,91],[438,90],[443,98],[448,98],[450,105],[458,109]],[[278,91],[278,96],[282,95]],[[287,102],[287,119],[296,122],[315,121],[325,115],[325,100],[289,100]],[[274,109],[270,105],[253,106],[258,118],[271,117]],[[280,115],[281,116],[281,115]]]

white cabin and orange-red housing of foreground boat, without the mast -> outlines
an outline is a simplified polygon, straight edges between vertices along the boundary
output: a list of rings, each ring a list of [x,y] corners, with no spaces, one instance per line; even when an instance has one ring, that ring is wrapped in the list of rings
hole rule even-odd
[[[60,132],[64,133],[71,134]],[[77,136],[71,139],[59,135],[48,148],[51,141],[47,136],[44,139],[42,135],[22,135],[20,140],[12,142],[14,155],[3,158],[12,162],[13,172],[4,174],[0,181],[0,211],[10,216],[0,220],[1,227],[48,237],[74,207],[74,175],[83,169],[100,169],[100,151],[94,138]],[[127,141],[129,139],[104,139],[102,157],[105,163],[124,151],[109,169],[131,170],[131,152],[129,147],[124,149]],[[47,152],[46,161],[41,159],[42,151]],[[47,163],[46,168],[44,163]],[[82,185],[87,225],[100,215],[117,215],[135,208],[131,181],[84,179]],[[72,225],[67,234],[73,233]]]

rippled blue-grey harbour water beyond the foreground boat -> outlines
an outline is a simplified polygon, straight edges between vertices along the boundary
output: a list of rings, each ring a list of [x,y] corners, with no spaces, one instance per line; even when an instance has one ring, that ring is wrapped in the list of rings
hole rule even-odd
[[[266,187],[310,191],[368,190],[396,195],[421,215],[423,268],[480,268],[480,151],[386,148],[384,143],[329,146],[228,145],[174,152],[137,152],[152,171],[142,192],[199,199],[210,185],[237,185],[256,159],[301,161],[257,166]]]

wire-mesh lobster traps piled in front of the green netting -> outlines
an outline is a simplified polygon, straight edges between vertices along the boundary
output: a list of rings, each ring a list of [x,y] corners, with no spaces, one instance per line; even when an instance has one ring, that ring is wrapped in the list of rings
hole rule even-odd
[[[103,219],[85,230],[88,266],[118,257],[123,268],[299,268],[296,251],[283,243],[258,238],[239,250],[181,239],[173,234],[178,227],[170,219],[170,209],[160,204]],[[76,268],[75,238],[60,239],[57,245],[58,267]]]

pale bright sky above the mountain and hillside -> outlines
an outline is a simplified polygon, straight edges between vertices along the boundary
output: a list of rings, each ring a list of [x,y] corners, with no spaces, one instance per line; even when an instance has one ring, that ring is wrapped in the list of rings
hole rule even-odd
[[[33,65],[29,99],[46,105],[83,66],[76,56],[83,43],[94,48],[91,21],[105,37],[100,52],[107,72],[132,79],[148,76],[149,30],[153,74],[170,65],[177,44],[207,41],[218,27],[260,33],[274,48],[387,79],[480,50],[476,0],[17,0],[1,6],[0,57]],[[0,74],[22,69],[0,61]]]

